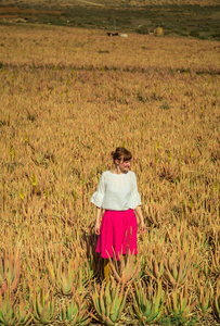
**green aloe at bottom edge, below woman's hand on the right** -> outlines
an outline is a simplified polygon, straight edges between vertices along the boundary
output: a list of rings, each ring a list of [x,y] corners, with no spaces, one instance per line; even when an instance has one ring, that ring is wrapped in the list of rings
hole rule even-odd
[[[161,283],[158,281],[157,290],[153,288],[152,281],[146,288],[144,283],[134,284],[135,294],[133,296],[133,308],[141,325],[157,323],[164,313],[164,294]]]

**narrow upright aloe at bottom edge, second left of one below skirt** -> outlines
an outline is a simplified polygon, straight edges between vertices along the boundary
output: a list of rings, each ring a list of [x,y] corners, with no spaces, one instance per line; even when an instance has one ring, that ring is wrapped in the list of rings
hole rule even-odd
[[[55,318],[55,302],[53,293],[47,287],[41,288],[40,292],[34,292],[33,315],[36,322],[43,325],[52,323]]]

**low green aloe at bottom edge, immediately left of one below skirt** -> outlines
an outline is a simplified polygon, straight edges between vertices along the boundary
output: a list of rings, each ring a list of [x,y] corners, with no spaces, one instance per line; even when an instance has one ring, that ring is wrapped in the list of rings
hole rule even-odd
[[[87,313],[85,298],[74,296],[72,302],[67,299],[65,302],[60,304],[60,319],[66,325],[88,325],[91,321],[90,315]]]

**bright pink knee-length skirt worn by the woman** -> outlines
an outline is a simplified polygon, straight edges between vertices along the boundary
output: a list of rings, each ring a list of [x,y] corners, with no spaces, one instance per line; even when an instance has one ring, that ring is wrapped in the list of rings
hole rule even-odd
[[[113,258],[115,252],[117,260],[119,253],[137,254],[137,231],[138,223],[133,210],[106,210],[102,218],[96,252],[104,259],[108,259],[108,254]]]

